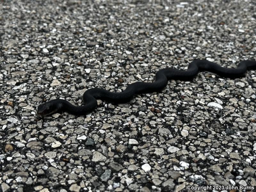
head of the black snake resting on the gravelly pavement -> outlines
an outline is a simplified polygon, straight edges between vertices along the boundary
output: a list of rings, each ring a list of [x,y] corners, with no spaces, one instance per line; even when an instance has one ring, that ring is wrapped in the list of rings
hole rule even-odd
[[[61,104],[58,104],[58,102],[54,102],[53,100],[50,100],[46,103],[38,105],[37,115],[40,115],[40,116],[51,115],[59,111],[60,108],[61,108]]]

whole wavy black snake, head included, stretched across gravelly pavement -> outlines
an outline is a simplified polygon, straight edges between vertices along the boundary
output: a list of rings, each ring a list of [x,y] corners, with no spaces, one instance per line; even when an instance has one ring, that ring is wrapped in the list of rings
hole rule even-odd
[[[141,93],[159,92],[166,87],[168,80],[191,80],[199,71],[209,71],[219,76],[237,78],[244,76],[248,69],[256,69],[255,60],[241,61],[237,68],[224,68],[208,60],[194,60],[188,65],[187,70],[175,68],[163,68],[157,71],[155,81],[152,83],[135,82],[129,84],[123,92],[110,92],[101,88],[91,88],[84,92],[84,105],[75,106],[67,100],[54,99],[38,106],[37,114],[41,116],[50,115],[60,111],[81,116],[92,112],[97,108],[97,99],[113,103],[125,103]]]

